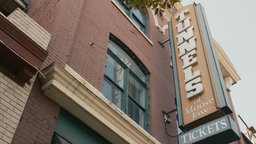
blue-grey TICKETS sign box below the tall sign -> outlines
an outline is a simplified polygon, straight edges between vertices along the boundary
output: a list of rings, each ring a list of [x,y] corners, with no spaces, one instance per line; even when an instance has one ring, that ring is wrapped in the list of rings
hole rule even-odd
[[[238,126],[228,115],[178,136],[179,144],[227,144],[238,139]]]

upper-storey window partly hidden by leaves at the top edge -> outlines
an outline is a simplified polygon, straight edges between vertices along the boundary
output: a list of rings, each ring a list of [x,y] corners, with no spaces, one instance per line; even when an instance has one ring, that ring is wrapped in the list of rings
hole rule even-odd
[[[120,0],[115,0],[117,5],[132,19],[132,21],[138,26],[138,28],[147,35],[147,16],[142,14],[140,10],[129,10],[126,7],[125,2],[120,2]]]

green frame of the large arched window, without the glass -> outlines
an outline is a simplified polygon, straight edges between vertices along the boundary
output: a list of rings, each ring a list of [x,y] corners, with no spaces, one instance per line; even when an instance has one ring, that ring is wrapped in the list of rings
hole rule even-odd
[[[143,68],[141,68],[141,65],[139,64],[139,62],[136,61],[135,56],[133,56],[129,51],[127,51],[127,48],[125,48],[122,44],[120,44],[120,42],[118,42],[112,36],[110,36],[109,44],[111,42],[116,44],[116,46],[118,46],[122,51],[124,51],[129,56],[129,58],[131,58],[135,62],[135,63],[132,63],[133,64],[132,65],[132,69],[133,69],[133,67],[135,69],[134,65],[136,65],[137,70],[139,68],[139,70],[144,75],[141,75],[140,73],[138,74],[138,72],[135,71],[135,70],[131,70],[131,68],[129,68],[127,66],[127,64],[124,63],[125,60],[122,59],[121,57],[119,57],[118,55],[116,55],[108,47],[108,50],[107,50],[107,60],[106,60],[104,78],[103,78],[104,80],[103,80],[102,93],[113,104],[115,104],[118,108],[120,108],[125,114],[127,114],[135,122],[137,122],[144,130],[149,132],[148,72],[145,71]],[[116,81],[115,79],[111,78],[111,76],[109,76],[109,74],[107,74],[108,72],[106,71],[106,69],[107,69],[107,66],[108,66],[108,64],[107,64],[108,63],[107,62],[108,59],[114,59],[115,65],[118,65],[118,68],[119,68],[119,66],[122,67],[123,72],[120,71],[121,68],[119,68],[119,70],[115,71],[115,72],[119,72],[119,73],[121,73],[123,75],[123,77],[122,77],[122,85],[120,85],[120,83],[119,83],[120,79],[118,79],[119,81]],[[116,90],[115,90],[115,93],[113,92],[113,89],[110,90],[106,86],[104,81],[105,82],[107,81],[108,85],[111,84],[115,89],[117,89],[117,91],[119,93],[117,94]],[[135,87],[135,85],[137,87]],[[133,89],[135,89],[135,90],[133,90]],[[119,100],[120,102],[115,102],[114,100],[116,98],[110,98],[110,96],[107,96],[108,95],[107,93],[112,93],[111,96],[113,96],[113,95],[114,96],[120,95],[120,100]],[[139,97],[138,97],[138,95],[139,95]],[[142,95],[142,97],[141,97],[141,95]],[[119,99],[119,96],[118,96],[118,99]],[[120,103],[120,105],[119,105],[119,103]],[[139,110],[139,112],[138,112],[138,110]],[[134,117],[133,112],[136,113],[137,117],[139,116],[139,121],[137,121],[137,118]],[[139,113],[139,115],[138,115],[138,113]],[[142,116],[140,114],[142,114]],[[142,120],[140,119],[140,117],[142,118]]]

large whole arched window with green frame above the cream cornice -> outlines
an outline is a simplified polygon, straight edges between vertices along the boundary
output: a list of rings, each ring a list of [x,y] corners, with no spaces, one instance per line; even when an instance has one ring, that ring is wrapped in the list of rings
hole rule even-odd
[[[148,131],[148,75],[138,65],[134,56],[111,38],[102,93]]]

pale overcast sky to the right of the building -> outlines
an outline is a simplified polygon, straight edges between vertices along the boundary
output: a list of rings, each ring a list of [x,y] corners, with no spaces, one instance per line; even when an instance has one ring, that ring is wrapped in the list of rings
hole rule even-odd
[[[222,47],[241,80],[231,86],[236,114],[256,128],[256,0],[192,0],[204,7],[212,37]],[[182,6],[192,4],[183,0]],[[238,117],[239,119],[239,117]],[[239,119],[243,133],[245,125]]]

